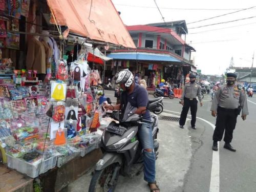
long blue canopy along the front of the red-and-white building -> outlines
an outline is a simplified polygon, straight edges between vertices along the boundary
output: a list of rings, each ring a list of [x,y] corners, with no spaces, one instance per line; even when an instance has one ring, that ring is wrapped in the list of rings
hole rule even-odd
[[[174,61],[181,62],[180,60],[170,55],[163,54],[148,54],[148,53],[111,53],[107,55],[113,59],[124,60],[155,60],[155,61]]]

